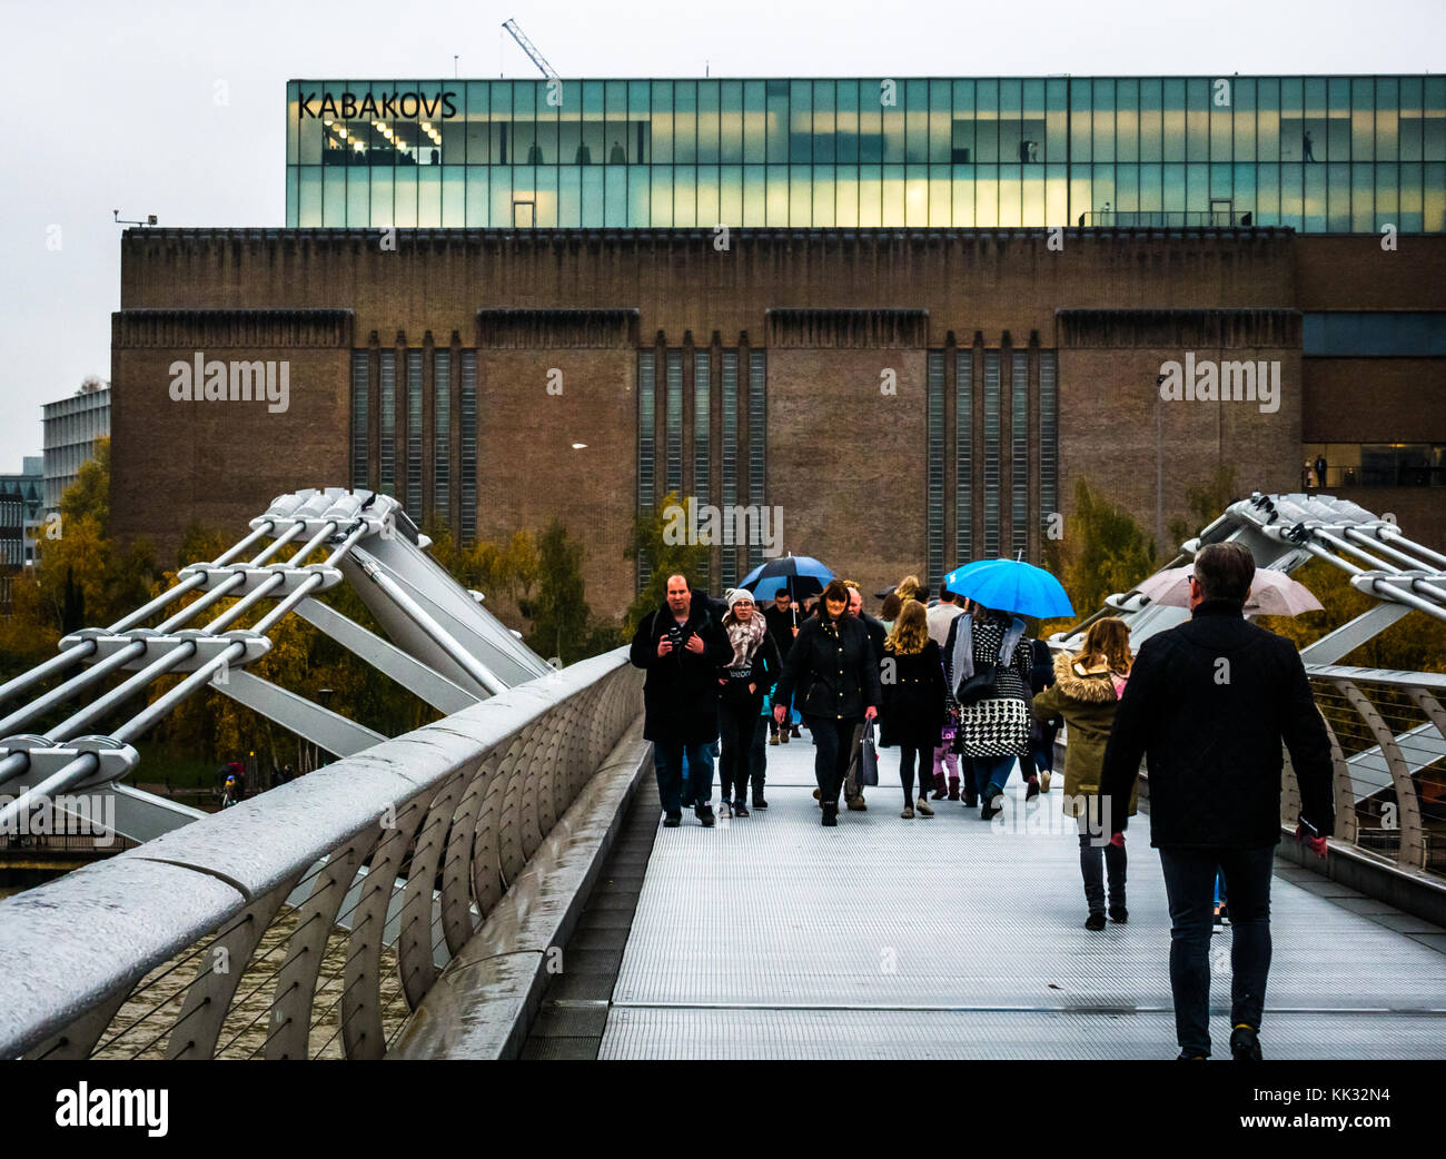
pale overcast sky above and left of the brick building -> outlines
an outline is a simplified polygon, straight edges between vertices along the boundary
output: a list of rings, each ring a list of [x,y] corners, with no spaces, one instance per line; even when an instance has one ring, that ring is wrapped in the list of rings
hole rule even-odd
[[[289,78],[1440,71],[1443,0],[0,0],[0,471],[110,377],[120,228],[285,224]],[[217,104],[217,82],[228,104]]]

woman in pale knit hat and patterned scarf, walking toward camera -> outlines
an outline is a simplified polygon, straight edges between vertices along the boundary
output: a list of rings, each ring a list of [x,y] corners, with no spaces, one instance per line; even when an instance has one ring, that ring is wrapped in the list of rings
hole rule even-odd
[[[753,593],[729,588],[723,617],[732,655],[719,676],[719,779],[723,817],[748,817],[748,783],[753,799],[763,799],[763,769],[753,767],[753,733],[763,695],[778,681],[778,645],[753,607]],[[729,803],[732,801],[732,805]]]

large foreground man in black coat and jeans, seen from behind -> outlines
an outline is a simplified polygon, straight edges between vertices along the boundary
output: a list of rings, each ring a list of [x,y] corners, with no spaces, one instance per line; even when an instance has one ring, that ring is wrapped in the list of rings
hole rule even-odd
[[[1270,974],[1270,880],[1280,840],[1281,741],[1300,785],[1296,835],[1320,856],[1335,828],[1330,743],[1300,653],[1242,616],[1255,561],[1239,543],[1194,558],[1189,623],[1145,640],[1119,701],[1100,795],[1119,834],[1139,759],[1150,841],[1170,899],[1170,988],[1180,1058],[1209,1058],[1215,874],[1233,922],[1231,1054],[1258,1059]],[[1121,838],[1122,840],[1122,838]]]

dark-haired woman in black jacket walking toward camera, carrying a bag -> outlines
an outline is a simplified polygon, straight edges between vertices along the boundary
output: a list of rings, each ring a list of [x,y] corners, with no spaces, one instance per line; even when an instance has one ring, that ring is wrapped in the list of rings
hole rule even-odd
[[[798,629],[784,676],[774,692],[774,718],[782,724],[792,699],[808,721],[814,777],[823,824],[839,824],[839,788],[849,770],[853,730],[873,720],[879,705],[879,668],[869,630],[849,616],[849,590],[830,580],[818,601],[823,611]],[[795,695],[797,694],[797,695]]]

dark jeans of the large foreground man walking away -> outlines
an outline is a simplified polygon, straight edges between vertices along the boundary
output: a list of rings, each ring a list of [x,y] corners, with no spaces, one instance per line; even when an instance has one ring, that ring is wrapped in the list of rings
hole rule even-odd
[[[1270,975],[1270,877],[1275,847],[1258,850],[1161,848],[1170,899],[1170,988],[1176,1038],[1187,1055],[1210,1054],[1210,931],[1215,873],[1231,883],[1231,1026],[1259,1029]]]

